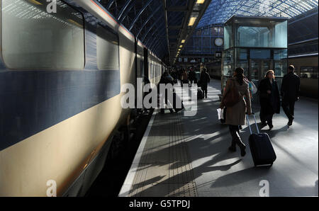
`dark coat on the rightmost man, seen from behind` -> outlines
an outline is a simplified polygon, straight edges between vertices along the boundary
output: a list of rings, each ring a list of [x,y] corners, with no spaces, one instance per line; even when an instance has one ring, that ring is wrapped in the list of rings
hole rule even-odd
[[[299,96],[300,78],[293,72],[284,76],[281,83],[281,96],[283,100],[296,101]]]

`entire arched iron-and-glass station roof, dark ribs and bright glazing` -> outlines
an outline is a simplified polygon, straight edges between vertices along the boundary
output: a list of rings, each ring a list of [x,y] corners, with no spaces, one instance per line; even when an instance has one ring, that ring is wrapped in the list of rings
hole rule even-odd
[[[318,17],[318,0],[95,1],[167,64],[179,56],[196,28],[223,24],[234,15],[291,19],[317,8]]]

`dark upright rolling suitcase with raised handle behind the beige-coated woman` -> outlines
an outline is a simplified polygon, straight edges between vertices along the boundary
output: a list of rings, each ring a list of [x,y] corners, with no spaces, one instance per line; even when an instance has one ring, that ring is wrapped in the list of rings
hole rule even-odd
[[[248,115],[246,116],[248,125],[250,127],[250,120]],[[257,127],[256,117],[254,115],[254,123]],[[272,147],[272,142],[267,133],[259,133],[257,127],[257,134],[252,133],[252,128],[250,127],[250,152],[252,153],[252,160],[254,161],[254,166],[270,165],[276,160],[276,153]]]

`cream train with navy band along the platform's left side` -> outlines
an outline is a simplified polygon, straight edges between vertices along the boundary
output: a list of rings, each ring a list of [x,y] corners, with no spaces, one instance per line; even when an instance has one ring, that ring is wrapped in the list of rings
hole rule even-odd
[[[0,196],[85,195],[127,141],[121,86],[167,71],[98,1],[52,2],[0,1]]]

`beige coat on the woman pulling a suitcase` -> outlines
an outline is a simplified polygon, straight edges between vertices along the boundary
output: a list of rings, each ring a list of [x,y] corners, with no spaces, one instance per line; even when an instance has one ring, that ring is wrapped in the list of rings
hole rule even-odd
[[[244,80],[244,83],[242,84],[242,86],[240,86],[240,84],[236,80],[236,77],[233,77],[233,79],[234,80],[232,80],[232,79],[227,80],[225,91],[223,93],[223,98],[225,97],[226,93],[228,93],[228,91],[230,91],[230,89],[233,87],[234,84],[235,84],[237,90],[240,92],[240,96],[243,96],[243,98],[237,104],[233,105],[232,107],[227,108],[226,124],[228,124],[228,125],[245,125],[246,112],[250,111],[250,113],[252,113],[252,108],[251,108],[251,103],[250,103],[249,85]],[[244,99],[244,96],[245,96],[245,99]],[[220,108],[224,107],[223,98],[222,98],[222,102],[220,103]]]

